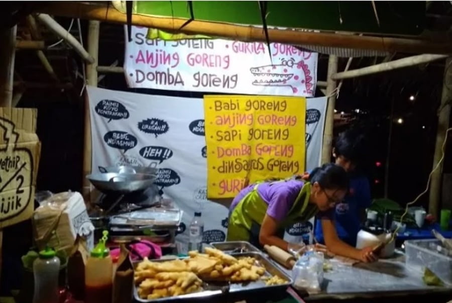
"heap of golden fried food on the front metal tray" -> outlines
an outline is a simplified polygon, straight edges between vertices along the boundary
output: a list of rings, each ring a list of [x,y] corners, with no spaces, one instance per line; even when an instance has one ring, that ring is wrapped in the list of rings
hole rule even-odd
[[[253,257],[235,258],[213,248],[206,248],[204,254],[190,251],[188,255],[186,259],[162,262],[145,258],[134,274],[138,295],[149,300],[177,296],[201,291],[203,280],[249,282],[265,274],[265,268]],[[278,279],[267,278],[266,284],[285,282]]]

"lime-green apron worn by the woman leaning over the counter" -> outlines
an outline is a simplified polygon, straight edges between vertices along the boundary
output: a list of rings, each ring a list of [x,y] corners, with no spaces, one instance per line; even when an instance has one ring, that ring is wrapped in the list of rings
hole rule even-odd
[[[277,181],[277,182],[284,182]],[[259,196],[259,184],[256,184],[237,204],[229,217],[227,241],[248,241],[260,247],[259,232],[262,221],[267,213],[268,204]],[[306,222],[318,212],[315,205],[309,205],[311,184],[305,183],[298,193],[287,217],[280,224],[277,235],[284,237],[284,228],[296,222]]]

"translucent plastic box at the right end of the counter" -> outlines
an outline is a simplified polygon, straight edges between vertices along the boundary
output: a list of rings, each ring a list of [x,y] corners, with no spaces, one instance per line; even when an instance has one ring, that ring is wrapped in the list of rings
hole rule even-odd
[[[452,285],[452,257],[436,252],[438,240],[405,241],[405,264],[411,268],[430,269],[444,283]]]

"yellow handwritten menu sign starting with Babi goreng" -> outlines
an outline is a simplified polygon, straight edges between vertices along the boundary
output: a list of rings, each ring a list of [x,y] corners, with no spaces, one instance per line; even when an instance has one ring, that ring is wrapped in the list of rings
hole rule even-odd
[[[306,98],[205,95],[207,197],[304,171]]]

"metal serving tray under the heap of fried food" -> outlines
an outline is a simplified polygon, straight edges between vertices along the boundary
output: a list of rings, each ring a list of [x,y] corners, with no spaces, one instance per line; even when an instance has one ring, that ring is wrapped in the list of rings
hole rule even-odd
[[[258,262],[259,265],[262,265],[265,267],[266,271],[264,273],[264,276],[279,276],[283,279],[285,279],[287,282],[284,284],[279,285],[266,285],[265,281],[262,279],[259,279],[254,282],[244,282],[244,283],[233,283],[233,282],[213,282],[208,281],[204,282],[203,284],[203,291],[195,292],[195,293],[189,293],[189,294],[183,294],[173,297],[166,297],[166,298],[158,298],[153,300],[148,299],[142,299],[138,296],[138,289],[136,286],[134,286],[134,296],[135,299],[139,302],[165,302],[165,301],[183,301],[186,299],[200,299],[200,298],[209,298],[213,296],[218,296],[223,293],[239,293],[239,292],[247,292],[252,290],[262,290],[262,289],[276,289],[276,288],[287,288],[290,286],[293,282],[292,278],[287,275],[284,271],[282,271],[279,267],[277,267],[271,260],[269,260],[263,253],[260,252],[245,252],[245,253],[232,253],[232,256],[236,258],[240,257],[253,257],[256,258],[256,262]],[[179,259],[185,259],[179,258]],[[164,261],[171,261],[174,259],[158,259],[158,260],[151,260],[153,262],[164,262]],[[137,265],[135,263],[135,265]]]

